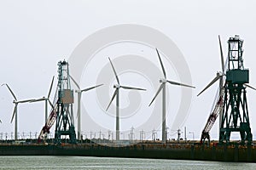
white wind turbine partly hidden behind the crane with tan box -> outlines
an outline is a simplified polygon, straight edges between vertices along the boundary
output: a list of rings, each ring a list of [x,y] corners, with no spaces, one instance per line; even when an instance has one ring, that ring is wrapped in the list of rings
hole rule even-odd
[[[79,140],[81,140],[81,96],[82,96],[82,93],[83,92],[87,92],[87,91],[89,91],[89,90],[91,90],[93,88],[100,87],[103,84],[96,85],[96,86],[93,86],[93,87],[90,87],[90,88],[84,88],[84,89],[81,90],[81,88],[79,87],[78,82],[76,82],[73,79],[73,77],[71,77],[70,75],[69,75],[69,77],[72,79],[72,81],[75,83],[75,85],[79,88],[75,92],[78,93],[78,138],[79,138]]]

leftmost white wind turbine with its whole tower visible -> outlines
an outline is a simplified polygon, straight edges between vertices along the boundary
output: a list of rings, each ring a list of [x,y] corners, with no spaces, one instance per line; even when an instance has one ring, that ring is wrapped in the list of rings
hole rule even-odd
[[[20,100],[18,101],[14,92],[11,90],[11,88],[9,88],[9,85],[7,83],[5,84],[2,84],[2,86],[6,86],[8,89],[9,89],[9,92],[12,94],[12,96],[14,97],[14,101],[13,103],[15,104],[15,109],[14,109],[14,113],[13,113],[13,116],[12,116],[12,119],[11,119],[11,123],[13,122],[14,120],[14,117],[15,117],[15,140],[18,139],[18,115],[17,115],[17,112],[18,112],[18,105],[20,103],[27,103],[27,102],[30,102],[32,101],[32,99],[25,99],[25,100]]]

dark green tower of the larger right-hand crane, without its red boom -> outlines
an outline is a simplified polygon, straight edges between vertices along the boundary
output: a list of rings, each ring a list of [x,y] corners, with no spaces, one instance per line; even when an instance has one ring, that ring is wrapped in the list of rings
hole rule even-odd
[[[249,71],[243,65],[243,40],[230,37],[228,41],[228,69],[224,84],[224,105],[220,124],[219,142],[229,143],[230,134],[238,132],[241,143],[252,143],[253,135],[247,108],[246,84],[249,82]]]

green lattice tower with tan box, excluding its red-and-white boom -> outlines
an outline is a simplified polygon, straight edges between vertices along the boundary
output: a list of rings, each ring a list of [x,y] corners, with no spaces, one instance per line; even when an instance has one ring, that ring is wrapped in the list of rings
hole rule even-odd
[[[76,133],[73,121],[73,90],[71,90],[67,61],[58,63],[58,100],[56,111],[55,140],[61,142],[62,136],[69,143],[76,143]]]

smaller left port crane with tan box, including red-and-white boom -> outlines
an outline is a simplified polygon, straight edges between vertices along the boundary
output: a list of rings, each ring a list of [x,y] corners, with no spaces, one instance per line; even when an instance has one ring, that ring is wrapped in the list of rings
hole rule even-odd
[[[67,61],[58,62],[58,86],[49,118],[42,128],[38,139],[45,139],[49,129],[55,123],[55,142],[61,143],[62,136],[68,136],[70,143],[76,143],[76,133],[73,121],[73,90]]]

